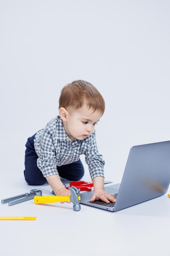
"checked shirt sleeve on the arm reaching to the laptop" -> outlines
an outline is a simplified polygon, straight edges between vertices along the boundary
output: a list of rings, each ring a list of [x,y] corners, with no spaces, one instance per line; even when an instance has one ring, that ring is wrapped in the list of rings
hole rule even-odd
[[[98,152],[95,132],[91,135],[90,146],[88,146],[88,150],[85,153],[85,161],[88,164],[89,173],[91,175],[91,179],[102,176],[104,177],[104,159],[101,154]]]

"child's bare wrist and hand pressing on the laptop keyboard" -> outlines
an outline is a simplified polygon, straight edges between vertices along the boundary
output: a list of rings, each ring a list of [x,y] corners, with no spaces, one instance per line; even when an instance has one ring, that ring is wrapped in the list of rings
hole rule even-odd
[[[94,202],[95,200],[102,200],[106,203],[109,202],[116,202],[115,195],[108,194],[106,191],[104,191],[104,177],[97,176],[93,178],[93,187],[94,187],[94,193],[91,198],[91,202]]]

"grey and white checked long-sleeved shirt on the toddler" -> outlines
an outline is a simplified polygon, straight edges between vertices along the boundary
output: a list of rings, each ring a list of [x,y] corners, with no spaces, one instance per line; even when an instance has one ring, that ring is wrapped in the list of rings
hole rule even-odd
[[[83,140],[72,142],[64,130],[62,119],[57,116],[36,133],[34,147],[38,155],[37,166],[44,177],[58,174],[57,166],[76,162],[82,154],[85,155],[91,179],[104,177],[104,160],[98,153],[95,131]]]

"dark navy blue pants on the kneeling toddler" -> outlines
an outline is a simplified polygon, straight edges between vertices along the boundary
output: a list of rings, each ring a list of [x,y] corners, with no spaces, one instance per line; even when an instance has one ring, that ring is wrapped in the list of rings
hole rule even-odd
[[[38,155],[34,148],[34,137],[35,135],[29,137],[25,145],[24,177],[30,185],[43,185],[46,182],[46,178],[37,166]],[[84,175],[84,167],[80,159],[71,164],[57,166],[57,171],[60,177],[71,181],[80,180]]]

